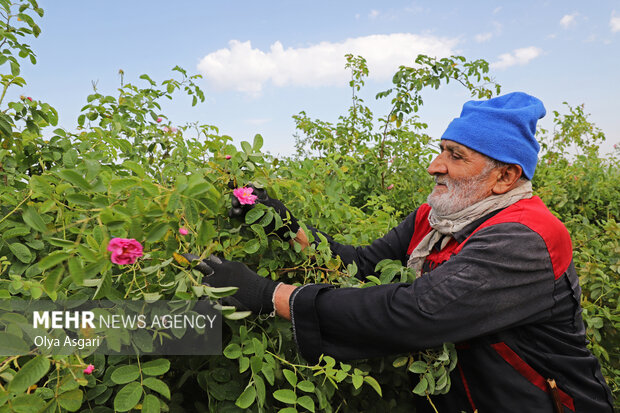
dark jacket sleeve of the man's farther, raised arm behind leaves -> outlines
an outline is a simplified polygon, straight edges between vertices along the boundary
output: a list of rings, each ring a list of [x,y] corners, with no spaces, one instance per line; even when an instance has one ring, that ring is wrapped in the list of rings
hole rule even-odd
[[[403,265],[407,264],[407,247],[414,231],[415,214],[416,211],[412,212],[382,238],[376,239],[364,247],[340,244],[322,231],[312,227],[308,227],[308,229],[313,232],[315,239],[317,239],[317,232],[323,234],[329,242],[332,254],[340,256],[342,262],[345,264],[355,262],[358,268],[356,277],[364,279],[368,275],[375,275],[375,267],[381,260],[389,258],[399,260]]]

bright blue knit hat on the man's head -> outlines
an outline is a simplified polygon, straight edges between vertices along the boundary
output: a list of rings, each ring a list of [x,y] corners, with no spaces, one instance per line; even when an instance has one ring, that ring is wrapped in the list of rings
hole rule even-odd
[[[523,168],[532,179],[540,145],[536,142],[536,122],[545,116],[542,102],[523,92],[489,100],[471,100],[463,105],[441,139],[467,146],[490,158]]]

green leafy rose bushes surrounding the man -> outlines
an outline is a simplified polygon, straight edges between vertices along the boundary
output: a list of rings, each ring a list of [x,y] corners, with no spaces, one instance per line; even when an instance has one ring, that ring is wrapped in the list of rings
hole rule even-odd
[[[355,266],[332,257],[324,239],[301,252],[265,233],[274,220],[275,229],[281,222],[262,205],[243,222],[228,218],[227,183],[265,186],[302,225],[363,245],[395,226],[430,190],[425,169],[435,149],[415,115],[423,104],[420,91],[452,80],[474,97],[499,93],[482,60],[419,56],[416,66],[398,70],[392,89],[378,94],[391,98],[390,109],[375,119],[357,95],[368,75],[366,62],[349,55],[347,114],[335,125],[303,112],[294,116],[297,155],[275,159],[261,152],[260,135],[237,148],[214,126],[168,122],[162,99],[178,93],[194,104],[204,99],[198,77],[176,67],[171,79],[143,75],[140,85],[122,84],[114,96],[95,90],[76,130],[49,131],[43,128],[55,127],[58,118],[50,105],[28,97],[3,102],[9,87],[25,84],[17,77],[19,58],[36,61],[22,38],[38,35],[31,16],[43,12],[33,0],[0,0],[0,6],[0,67],[10,72],[2,76],[0,98],[0,298],[220,296],[173,259],[183,252],[243,260],[260,275],[289,283],[411,281],[410,270],[385,261],[379,276],[362,284],[352,277]],[[581,106],[568,110],[555,113],[552,133],[539,135],[545,152],[534,184],[571,231],[588,338],[618,394],[618,152],[601,157],[602,133]],[[570,145],[577,155],[567,154]],[[181,227],[189,233],[181,235]],[[114,237],[139,240],[145,255],[131,265],[112,264],[106,247]],[[288,322],[234,308],[223,313],[223,356],[4,357],[0,411],[397,412],[414,410],[403,389],[431,401],[450,386],[456,361],[450,344],[354,363],[323,357],[308,365],[297,354]],[[0,320],[2,329],[8,321]],[[93,374],[83,372],[88,364],[95,366]]]

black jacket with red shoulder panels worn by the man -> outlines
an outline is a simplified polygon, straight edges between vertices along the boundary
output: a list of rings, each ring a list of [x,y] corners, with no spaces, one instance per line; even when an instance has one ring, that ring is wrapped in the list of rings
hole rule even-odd
[[[360,273],[385,258],[406,265],[430,231],[422,205],[367,247],[332,251]],[[473,222],[427,258],[412,284],[370,288],[306,285],[291,296],[301,354],[340,360],[413,352],[452,342],[452,388],[440,412],[552,413],[547,379],[565,412],[612,412],[611,393],[586,347],[579,279],[564,225],[538,197]],[[418,412],[431,412],[418,398]]]

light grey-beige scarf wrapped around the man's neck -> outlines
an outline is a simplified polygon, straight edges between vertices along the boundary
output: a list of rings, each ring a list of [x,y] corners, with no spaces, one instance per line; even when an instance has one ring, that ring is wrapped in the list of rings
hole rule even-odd
[[[478,218],[481,218],[495,210],[506,208],[522,199],[531,197],[532,183],[527,181],[526,183],[519,185],[505,194],[488,196],[465,209],[455,212],[454,214],[441,216],[435,213],[434,209],[431,209],[428,216],[428,222],[431,224],[433,229],[411,252],[409,261],[407,261],[407,267],[413,268],[416,272],[416,276],[420,277],[424,260],[442,237],[444,239],[441,243],[441,249],[446,246],[448,241],[450,241],[450,238],[455,233],[462,230]],[[445,235],[449,236],[445,237]]]

